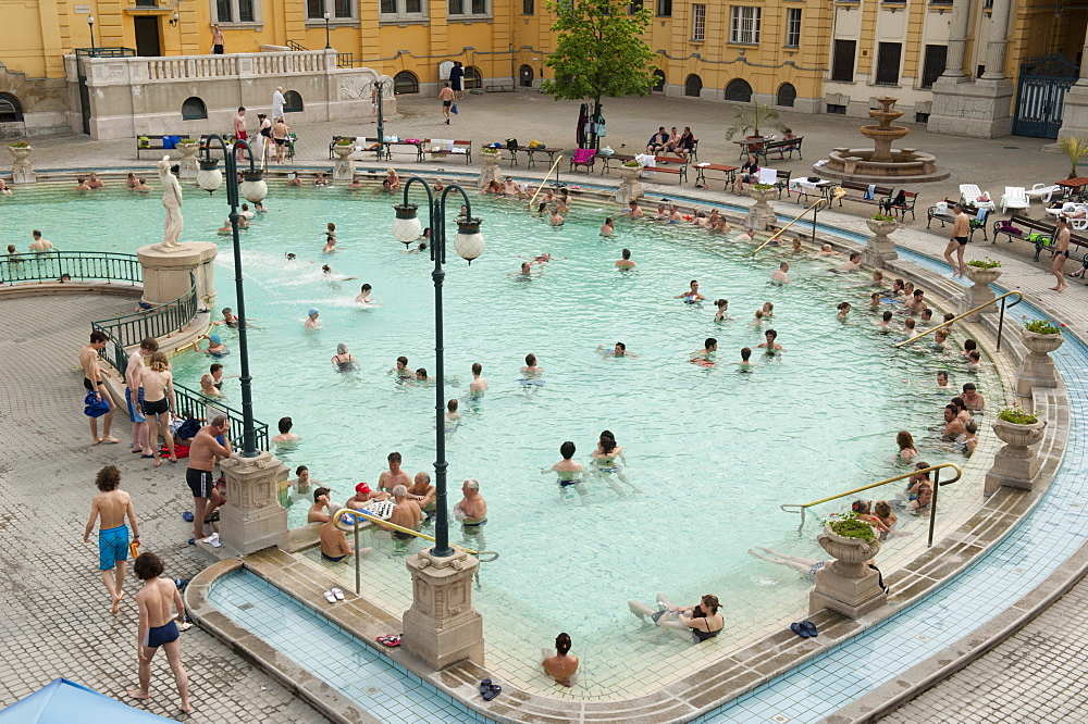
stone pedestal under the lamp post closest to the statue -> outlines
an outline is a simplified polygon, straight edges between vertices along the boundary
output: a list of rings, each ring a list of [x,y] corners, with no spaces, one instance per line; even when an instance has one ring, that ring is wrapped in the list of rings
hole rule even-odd
[[[286,547],[287,511],[277,487],[287,469],[270,452],[243,458],[235,452],[220,463],[226,476],[226,502],[220,512],[223,551],[248,556],[271,546]]]

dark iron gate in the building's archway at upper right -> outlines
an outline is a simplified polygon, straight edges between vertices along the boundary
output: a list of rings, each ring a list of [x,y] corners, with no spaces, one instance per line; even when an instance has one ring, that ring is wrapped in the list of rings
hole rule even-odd
[[[1013,135],[1058,138],[1065,91],[1079,76],[1080,68],[1064,55],[1048,55],[1021,65]]]

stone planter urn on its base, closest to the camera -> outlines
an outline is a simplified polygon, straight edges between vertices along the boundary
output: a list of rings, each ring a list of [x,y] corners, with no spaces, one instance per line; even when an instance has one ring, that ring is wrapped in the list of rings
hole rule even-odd
[[[834,562],[824,569],[808,595],[809,613],[830,609],[860,619],[888,602],[877,572],[865,564],[880,551],[879,540],[848,538],[826,525],[816,541]]]

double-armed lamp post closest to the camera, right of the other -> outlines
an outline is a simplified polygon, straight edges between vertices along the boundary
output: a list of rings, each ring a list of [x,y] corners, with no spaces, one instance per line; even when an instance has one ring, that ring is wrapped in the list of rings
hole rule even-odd
[[[380,111],[379,111],[380,112]],[[381,117],[381,115],[379,115]],[[431,261],[434,262],[434,271],[431,278],[434,280],[434,365],[435,365],[435,461],[434,461],[434,487],[435,487],[435,511],[436,521],[434,528],[434,548],[431,554],[438,558],[453,556],[454,549],[449,546],[449,515],[446,504],[446,385],[445,385],[445,359],[442,337],[442,283],[446,277],[442,265],[446,261],[446,197],[452,191],[460,195],[465,201],[465,213],[457,216],[457,236],[454,237],[454,250],[462,258],[472,260],[483,253],[484,240],[480,233],[479,219],[472,217],[472,202],[469,200],[465,189],[456,184],[450,184],[443,189],[438,198],[434,197],[426,182],[419,176],[412,176],[405,182],[404,201],[393,209],[396,211],[396,219],[393,221],[393,236],[400,244],[408,247],[413,241],[418,241],[423,233],[422,224],[416,215],[418,204],[409,203],[408,190],[419,185],[426,192],[428,217],[431,225]],[[240,283],[239,283],[240,284]]]

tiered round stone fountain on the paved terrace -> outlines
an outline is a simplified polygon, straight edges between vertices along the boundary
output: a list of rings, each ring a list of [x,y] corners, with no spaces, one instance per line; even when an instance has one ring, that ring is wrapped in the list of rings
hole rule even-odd
[[[879,125],[862,126],[863,136],[873,139],[873,148],[836,148],[828,154],[828,162],[814,166],[826,178],[840,178],[864,184],[900,186],[943,180],[951,174],[937,166],[937,158],[913,148],[892,148],[892,143],[911,133],[905,126],[891,122],[903,115],[894,111],[898,98],[878,98],[882,111],[869,111]]]

